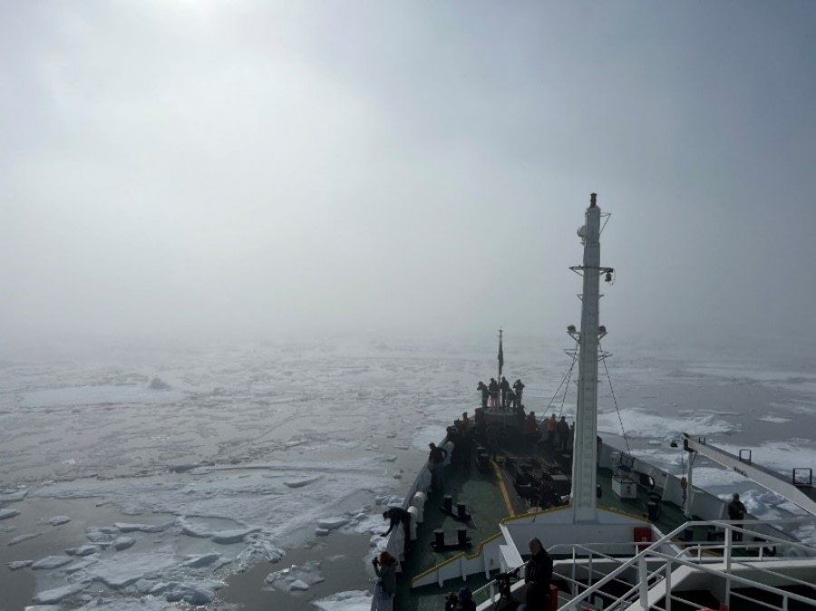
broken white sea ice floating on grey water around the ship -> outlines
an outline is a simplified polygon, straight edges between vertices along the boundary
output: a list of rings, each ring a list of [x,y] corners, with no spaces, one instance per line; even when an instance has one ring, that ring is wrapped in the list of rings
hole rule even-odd
[[[31,571],[38,605],[169,611],[176,608],[171,601],[207,604],[231,573],[281,562],[287,549],[319,535],[368,536],[374,554],[384,545],[382,510],[402,503],[398,493],[413,481],[428,442],[440,440],[463,401],[470,397],[477,404],[475,381],[486,370],[473,354],[494,359],[489,339],[483,350],[448,346],[443,354],[409,344],[328,349],[323,343],[270,343],[189,354],[134,354],[128,346],[122,364],[104,365],[67,359],[27,364],[9,354],[0,386],[0,444],[14,449],[15,462],[0,465],[7,487],[0,490],[0,532],[11,533],[21,519],[9,504],[45,499],[97,499],[102,507],[139,517],[89,527],[85,540],[68,544],[72,554],[57,556],[63,547],[42,558],[21,553],[7,567]],[[530,352],[536,368],[539,352]],[[560,365],[568,367],[559,350],[553,354],[559,360],[548,371],[559,373],[551,381],[521,373],[528,408],[539,414],[549,409]],[[102,362],[112,362],[110,351]],[[600,431],[620,434],[622,420],[627,435],[648,446],[636,453],[677,471],[682,455],[668,450],[668,437],[705,432],[728,441],[753,423],[763,432],[772,428],[778,438],[754,444],[754,458],[762,450],[763,461],[773,465],[813,466],[812,440],[791,441],[786,432],[806,414],[805,393],[816,393],[810,373],[716,361],[689,366],[668,359],[661,366],[662,375],[636,365],[623,373],[643,386],[658,378],[674,384],[675,395],[661,396],[661,404],[672,408],[654,409],[646,394],[633,397],[621,405],[620,420],[611,409],[601,413]],[[615,375],[614,360],[610,369]],[[717,412],[714,405],[702,406],[706,411],[685,403],[681,392],[684,384],[723,388],[744,385],[747,378],[753,388],[764,384],[800,395],[754,406],[753,419],[739,422],[743,406],[724,405]],[[427,392],[417,392],[419,380]],[[705,485],[731,488],[737,477],[714,467],[695,469],[695,483]],[[745,499],[754,515],[786,509],[759,494]],[[43,523],[60,528],[78,518],[70,511],[47,515]],[[4,535],[4,548],[15,556],[28,538],[43,541],[48,533],[39,530]],[[360,565],[362,573],[367,559]],[[297,596],[322,578],[319,566],[305,564],[270,573],[267,585]],[[116,602],[83,598],[90,596],[89,584],[111,588]],[[370,604],[371,594],[362,590],[315,602],[320,611],[368,611]]]

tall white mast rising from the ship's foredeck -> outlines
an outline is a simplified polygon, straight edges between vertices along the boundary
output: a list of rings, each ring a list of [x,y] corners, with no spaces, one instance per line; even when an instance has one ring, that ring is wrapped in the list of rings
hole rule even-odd
[[[581,295],[581,328],[568,328],[569,335],[578,342],[578,405],[576,408],[575,440],[572,458],[572,511],[573,521],[597,519],[597,359],[598,340],[606,333],[598,325],[598,301],[600,300],[599,276],[611,268],[600,267],[600,217],[596,204],[597,195],[592,193],[587,209],[587,222],[578,229],[584,243],[584,265],[571,267],[584,276],[584,292]]]

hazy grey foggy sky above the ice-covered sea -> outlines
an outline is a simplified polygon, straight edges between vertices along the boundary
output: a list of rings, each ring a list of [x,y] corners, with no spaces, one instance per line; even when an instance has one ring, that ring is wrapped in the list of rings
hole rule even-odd
[[[6,2],[0,336],[816,337],[816,2]],[[614,337],[614,335],[610,335]]]

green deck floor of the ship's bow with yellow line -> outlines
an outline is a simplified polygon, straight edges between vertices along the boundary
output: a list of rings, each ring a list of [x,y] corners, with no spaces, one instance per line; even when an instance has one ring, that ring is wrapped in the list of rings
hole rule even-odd
[[[444,608],[445,597],[450,592],[458,592],[461,587],[471,591],[484,586],[487,579],[484,574],[471,575],[467,580],[455,579],[446,581],[442,587],[411,587],[414,577],[422,575],[444,562],[457,558],[461,553],[478,554],[483,542],[499,537],[499,523],[502,519],[539,511],[531,507],[527,499],[520,497],[513,486],[514,469],[525,461],[538,461],[556,471],[561,467],[568,469],[571,457],[560,455],[548,446],[539,444],[516,444],[515,447],[503,447],[496,452],[495,460],[490,467],[479,470],[476,461],[462,461],[454,452],[452,463],[445,469],[445,490],[432,491],[425,503],[423,523],[418,525],[417,540],[409,549],[403,561],[403,573],[398,579],[397,594],[393,608],[398,611],[438,611]],[[566,471],[568,473],[568,470]],[[636,499],[621,499],[612,489],[612,471],[599,469],[597,483],[601,489],[598,506],[622,511],[646,519],[648,502],[647,491],[638,487]],[[566,484],[568,486],[568,483]],[[566,493],[566,492],[565,492]],[[452,508],[455,513],[457,504],[466,503],[471,521],[467,524],[467,536],[471,543],[463,551],[452,549],[434,551],[432,542],[434,531],[442,529],[448,542],[457,540],[457,531],[463,528],[461,521],[454,519],[442,509],[444,496],[452,497]],[[661,511],[655,520],[657,528],[669,532],[687,521],[681,508],[673,503],[661,503]],[[546,546],[546,541],[545,541]],[[491,577],[492,578],[492,577]]]

